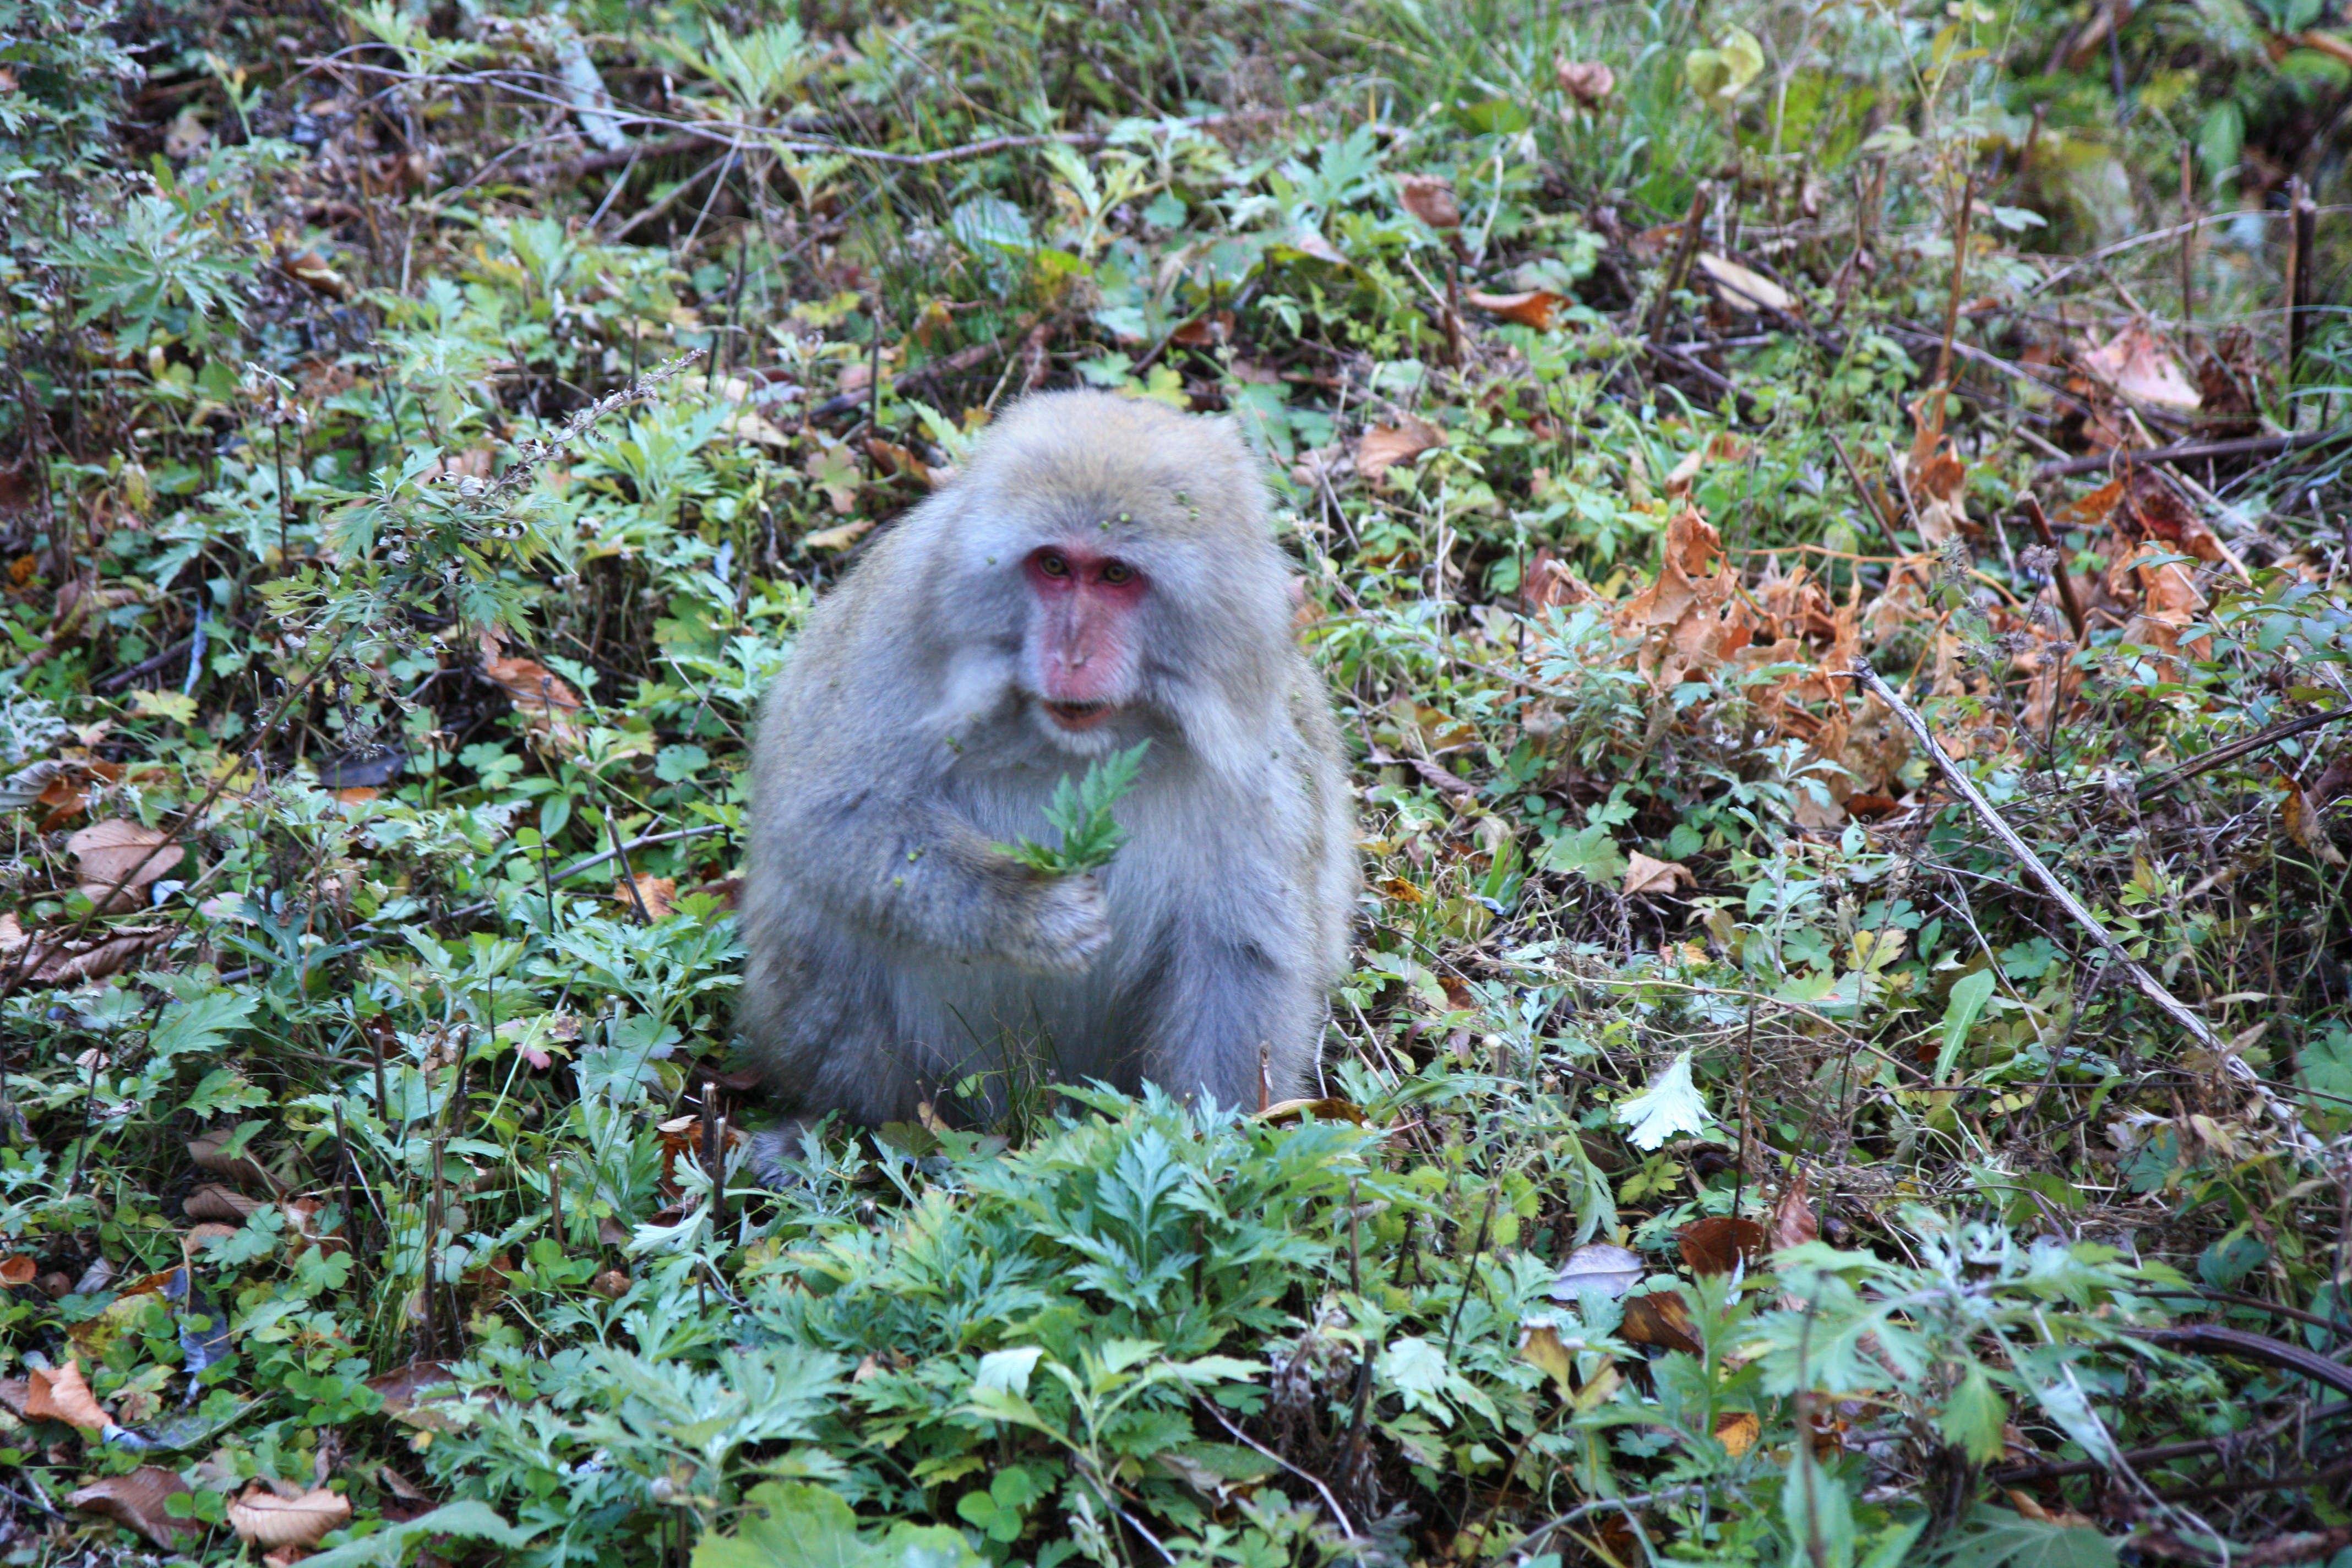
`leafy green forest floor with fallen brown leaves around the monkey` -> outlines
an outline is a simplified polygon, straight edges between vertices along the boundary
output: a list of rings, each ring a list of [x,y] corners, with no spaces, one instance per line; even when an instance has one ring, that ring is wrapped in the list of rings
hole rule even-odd
[[[0,7],[0,1561],[2352,1563],[2333,0]],[[835,1133],[746,731],[1268,458],[1310,1103]]]

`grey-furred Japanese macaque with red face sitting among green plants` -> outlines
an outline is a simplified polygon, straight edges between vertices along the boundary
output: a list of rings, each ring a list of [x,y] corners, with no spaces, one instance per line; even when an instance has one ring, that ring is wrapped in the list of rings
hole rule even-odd
[[[1256,458],[1105,393],[1016,404],[811,614],[760,719],[736,1027],[790,1117],[1002,1112],[1101,1079],[1303,1088],[1348,952],[1345,762]],[[1084,875],[1063,776],[1150,741]]]

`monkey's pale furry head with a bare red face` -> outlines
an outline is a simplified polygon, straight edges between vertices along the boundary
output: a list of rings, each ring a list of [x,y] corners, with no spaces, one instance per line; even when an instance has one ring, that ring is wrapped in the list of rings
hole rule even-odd
[[[1181,733],[1230,755],[1279,701],[1289,564],[1223,421],[1108,393],[1016,404],[957,480],[943,583],[1056,750]],[[969,693],[981,696],[981,693]]]

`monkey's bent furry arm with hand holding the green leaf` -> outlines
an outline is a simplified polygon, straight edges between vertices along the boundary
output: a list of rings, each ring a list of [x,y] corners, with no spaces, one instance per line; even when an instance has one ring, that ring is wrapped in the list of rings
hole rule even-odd
[[[1080,973],[1110,940],[1094,877],[1035,872],[943,804],[840,788],[776,827],[793,889],[882,938],[1035,973]]]

